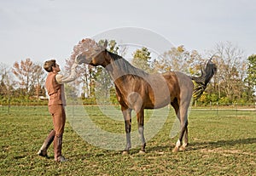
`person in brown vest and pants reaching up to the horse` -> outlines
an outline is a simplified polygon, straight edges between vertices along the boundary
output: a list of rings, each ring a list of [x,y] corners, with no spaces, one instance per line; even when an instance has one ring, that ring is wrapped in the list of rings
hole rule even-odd
[[[49,94],[49,113],[53,119],[54,129],[52,129],[48,137],[44,140],[44,144],[38,151],[39,156],[47,156],[47,149],[49,145],[54,141],[54,153],[56,162],[67,161],[64,156],[61,155],[62,148],[62,136],[64,133],[64,127],[66,122],[66,114],[64,106],[66,105],[66,99],[64,95],[64,83],[72,82],[75,80],[75,69],[77,63],[74,63],[71,68],[71,74],[68,77],[64,77],[59,72],[60,66],[56,64],[55,60],[48,60],[44,62],[44,70],[49,72],[45,82],[45,88]]]

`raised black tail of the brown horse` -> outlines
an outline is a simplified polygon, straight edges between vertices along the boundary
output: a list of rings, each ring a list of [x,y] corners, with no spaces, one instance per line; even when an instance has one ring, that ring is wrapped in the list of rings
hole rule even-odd
[[[213,57],[213,56],[212,56]],[[210,82],[211,78],[217,71],[217,66],[212,63],[212,58],[208,60],[207,66],[204,71],[201,70],[201,77],[191,77],[195,81],[196,86],[193,91],[194,99],[199,99],[205,89],[207,84]]]

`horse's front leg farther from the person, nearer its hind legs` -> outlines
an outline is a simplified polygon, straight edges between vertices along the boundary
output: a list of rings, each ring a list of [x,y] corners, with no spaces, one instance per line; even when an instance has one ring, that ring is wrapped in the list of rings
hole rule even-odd
[[[143,109],[137,112],[137,124],[138,124],[138,133],[142,141],[140,153],[144,153],[145,147],[146,147],[146,140],[144,137],[144,110]]]

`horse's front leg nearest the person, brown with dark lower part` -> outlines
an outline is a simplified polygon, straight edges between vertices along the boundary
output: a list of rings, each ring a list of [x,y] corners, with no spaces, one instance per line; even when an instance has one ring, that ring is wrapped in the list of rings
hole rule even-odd
[[[125,120],[126,146],[123,155],[129,154],[131,149],[131,109],[121,107]]]

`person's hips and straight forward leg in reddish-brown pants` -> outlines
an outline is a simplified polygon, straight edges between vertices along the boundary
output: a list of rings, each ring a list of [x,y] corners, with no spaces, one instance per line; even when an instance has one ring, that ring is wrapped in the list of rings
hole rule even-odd
[[[66,122],[66,113],[63,105],[49,105],[49,113],[52,115],[55,128],[54,151],[55,161],[58,161],[61,156],[62,136]]]

